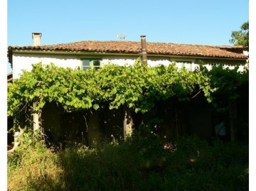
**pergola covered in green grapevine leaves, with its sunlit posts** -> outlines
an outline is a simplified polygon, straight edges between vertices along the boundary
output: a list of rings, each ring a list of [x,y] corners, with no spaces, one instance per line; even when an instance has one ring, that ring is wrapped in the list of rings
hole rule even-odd
[[[85,71],[38,63],[31,72],[23,71],[8,84],[8,116],[14,117],[16,131],[23,128],[18,120],[22,114],[32,114],[36,131],[41,129],[41,112],[46,102],[55,102],[65,111],[122,107],[125,139],[132,133],[131,111],[146,113],[154,109],[158,100],[176,97],[178,101],[186,101],[198,94],[219,107],[214,95],[221,93],[235,100],[239,96],[238,86],[247,80],[247,74],[247,70],[239,73],[220,67],[194,72],[178,70],[175,64],[148,67],[141,60],[134,65],[109,64],[100,70]]]

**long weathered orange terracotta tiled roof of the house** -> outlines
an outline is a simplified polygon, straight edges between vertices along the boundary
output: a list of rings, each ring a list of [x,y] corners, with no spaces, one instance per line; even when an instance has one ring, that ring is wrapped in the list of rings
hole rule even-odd
[[[95,41],[84,40],[75,43],[63,43],[40,46],[9,46],[11,50],[65,50],[65,51],[92,51],[104,53],[141,53],[142,45],[137,41]],[[232,52],[232,49],[241,46],[217,45],[187,45],[174,43],[149,43],[146,42],[148,55],[183,55],[210,58],[247,59],[247,56]]]

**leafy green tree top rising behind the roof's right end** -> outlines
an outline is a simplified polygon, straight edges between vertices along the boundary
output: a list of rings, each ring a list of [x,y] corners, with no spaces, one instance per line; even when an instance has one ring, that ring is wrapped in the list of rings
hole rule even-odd
[[[249,46],[249,21],[243,23],[240,29],[240,31],[232,31],[232,39],[230,39],[229,42],[233,45]]]

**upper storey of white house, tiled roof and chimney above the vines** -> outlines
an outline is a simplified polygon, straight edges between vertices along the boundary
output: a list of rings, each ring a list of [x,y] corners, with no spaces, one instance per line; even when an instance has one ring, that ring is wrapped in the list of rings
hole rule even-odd
[[[137,41],[83,40],[74,43],[41,45],[41,33],[33,33],[33,45],[9,46],[8,57],[17,78],[21,70],[31,70],[32,63],[50,63],[60,67],[87,70],[112,62],[132,65],[142,55],[142,44]],[[143,38],[145,39],[145,38]],[[247,63],[248,48],[243,46],[186,45],[174,43],[146,43],[147,64],[169,65],[176,62],[178,68],[194,70],[199,63],[206,65],[240,65]]]

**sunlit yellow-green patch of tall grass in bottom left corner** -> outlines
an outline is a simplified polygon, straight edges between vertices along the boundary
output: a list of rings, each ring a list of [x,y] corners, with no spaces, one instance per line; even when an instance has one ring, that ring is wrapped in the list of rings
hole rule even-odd
[[[65,181],[58,160],[41,141],[20,146],[8,155],[8,190],[63,190]]]

